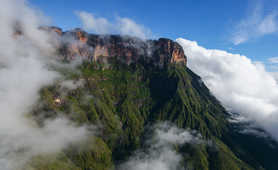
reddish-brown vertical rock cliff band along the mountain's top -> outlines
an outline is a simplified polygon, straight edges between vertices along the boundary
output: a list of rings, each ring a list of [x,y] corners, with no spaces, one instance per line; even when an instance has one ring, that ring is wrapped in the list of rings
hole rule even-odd
[[[144,59],[157,66],[169,63],[186,65],[186,56],[182,47],[166,38],[143,41],[129,36],[88,34],[81,29],[62,32],[57,27],[43,30],[56,32],[62,41],[63,55],[67,59],[76,56],[107,63],[110,59],[126,63],[136,63]]]

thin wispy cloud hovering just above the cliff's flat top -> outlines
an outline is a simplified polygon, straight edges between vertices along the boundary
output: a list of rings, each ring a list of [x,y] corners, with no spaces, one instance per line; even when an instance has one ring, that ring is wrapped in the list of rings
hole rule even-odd
[[[86,31],[93,31],[97,34],[121,34],[149,38],[151,31],[144,26],[137,24],[130,18],[117,17],[115,21],[109,21],[106,18],[96,17],[85,11],[76,12]]]

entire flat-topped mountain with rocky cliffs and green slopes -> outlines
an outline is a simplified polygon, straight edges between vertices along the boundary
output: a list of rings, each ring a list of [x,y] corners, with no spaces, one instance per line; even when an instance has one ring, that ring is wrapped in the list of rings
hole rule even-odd
[[[196,130],[210,141],[209,145],[174,145],[184,169],[277,169],[275,160],[267,158],[278,151],[278,145],[273,141],[271,150],[266,140],[237,131],[237,125],[228,121],[231,115],[186,66],[187,57],[176,42],[94,35],[80,29],[41,29],[61,38],[57,54],[62,62],[83,60],[77,70],[60,71],[75,88],[62,88],[59,82],[43,88],[41,104],[32,116],[38,120],[66,116],[77,124],[100,124],[101,128],[85,142],[84,150],[69,147],[51,162],[48,157],[34,157],[29,164],[33,169],[117,169],[136,151],[144,150],[149,127],[160,122]],[[243,137],[255,144],[245,149]],[[271,154],[256,152],[256,144]]]

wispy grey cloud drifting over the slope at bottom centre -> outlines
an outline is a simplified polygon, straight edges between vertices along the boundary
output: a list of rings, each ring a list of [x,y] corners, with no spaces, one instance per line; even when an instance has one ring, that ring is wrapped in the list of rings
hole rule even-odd
[[[136,152],[121,170],[178,170],[181,167],[182,156],[178,154],[174,145],[185,143],[199,144],[203,141],[196,132],[179,129],[169,123],[156,125],[155,133],[147,141],[149,148],[145,152]],[[185,166],[185,165],[183,165]]]

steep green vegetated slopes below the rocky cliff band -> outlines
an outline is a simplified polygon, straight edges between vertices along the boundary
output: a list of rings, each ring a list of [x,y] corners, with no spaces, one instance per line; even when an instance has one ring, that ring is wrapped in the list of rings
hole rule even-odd
[[[45,87],[32,116],[40,122],[42,117],[63,115],[80,125],[98,128],[80,144],[81,148],[71,146],[55,156],[34,157],[27,165],[29,169],[117,168],[144,147],[149,125],[161,121],[195,129],[210,142],[177,148],[188,169],[249,170],[264,166],[258,160],[261,157],[252,155],[252,147],[244,149],[246,144],[240,141],[245,139],[227,121],[225,109],[186,66],[169,64],[158,68],[144,61],[131,65],[111,61],[109,67],[85,62],[78,70],[60,72],[67,80],[81,81],[83,85],[67,89],[57,82]]]

